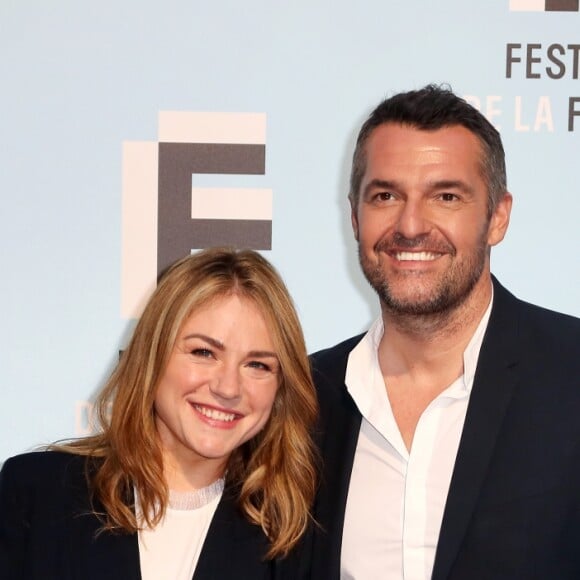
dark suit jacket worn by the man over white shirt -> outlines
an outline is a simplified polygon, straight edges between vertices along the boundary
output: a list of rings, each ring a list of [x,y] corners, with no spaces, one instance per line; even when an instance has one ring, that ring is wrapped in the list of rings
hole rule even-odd
[[[310,538],[316,579],[340,574],[361,425],[344,377],[361,338],[313,355],[324,458],[321,528]],[[580,320],[526,304],[496,280],[432,578],[580,578]]]

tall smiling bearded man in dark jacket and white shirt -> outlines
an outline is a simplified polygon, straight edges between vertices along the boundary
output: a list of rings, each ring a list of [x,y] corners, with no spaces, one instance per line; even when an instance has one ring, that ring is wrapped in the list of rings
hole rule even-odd
[[[446,89],[395,95],[349,199],[381,317],[313,356],[311,577],[580,578],[580,321],[490,273],[512,206],[499,134]]]

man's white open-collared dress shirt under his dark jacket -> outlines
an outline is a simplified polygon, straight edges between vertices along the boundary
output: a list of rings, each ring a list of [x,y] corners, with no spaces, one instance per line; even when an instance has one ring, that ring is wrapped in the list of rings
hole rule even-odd
[[[346,504],[343,580],[431,578],[451,474],[491,302],[463,354],[464,373],[425,409],[411,451],[378,360],[378,319],[348,358],[346,385],[363,416]]]

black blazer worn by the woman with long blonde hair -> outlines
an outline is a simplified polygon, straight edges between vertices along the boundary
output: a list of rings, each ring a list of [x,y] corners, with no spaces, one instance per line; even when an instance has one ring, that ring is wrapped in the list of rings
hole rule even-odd
[[[0,472],[0,578],[139,580],[137,535],[97,534],[83,457],[56,451],[6,461]],[[292,560],[265,561],[268,542],[226,488],[193,580],[294,579]]]

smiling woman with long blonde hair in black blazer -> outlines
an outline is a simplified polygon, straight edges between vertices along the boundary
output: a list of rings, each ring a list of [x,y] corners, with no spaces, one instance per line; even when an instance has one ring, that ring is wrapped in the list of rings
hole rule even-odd
[[[212,249],[172,266],[97,405],[98,434],[4,464],[0,577],[296,577],[316,400],[264,258]]]

